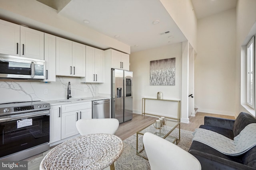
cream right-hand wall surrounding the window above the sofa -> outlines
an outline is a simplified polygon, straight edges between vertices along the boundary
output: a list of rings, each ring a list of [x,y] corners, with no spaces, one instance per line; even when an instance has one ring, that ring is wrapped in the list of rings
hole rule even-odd
[[[245,91],[245,80],[241,77],[241,61],[244,61],[244,55],[241,56],[241,46],[243,45],[244,41],[248,36],[252,26],[256,22],[256,1],[255,0],[238,0],[236,6],[236,116],[241,111],[248,112],[244,106],[241,105],[241,102],[244,100],[241,97],[245,97],[241,93]],[[255,33],[254,33],[255,34]],[[244,72],[244,74],[246,74]]]

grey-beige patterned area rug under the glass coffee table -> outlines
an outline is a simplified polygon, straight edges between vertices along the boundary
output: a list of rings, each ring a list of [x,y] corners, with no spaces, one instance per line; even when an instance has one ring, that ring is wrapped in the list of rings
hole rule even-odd
[[[178,137],[179,130],[174,129],[171,133],[173,137]],[[178,146],[186,151],[190,148],[192,143],[192,132],[186,130],[180,130],[180,142]],[[143,136],[138,135],[138,150],[143,147]],[[146,156],[146,152],[143,150],[141,155]],[[148,160],[136,155],[136,134],[128,137],[124,140],[124,151],[120,158],[118,158],[116,165],[116,170],[150,170],[150,164]]]

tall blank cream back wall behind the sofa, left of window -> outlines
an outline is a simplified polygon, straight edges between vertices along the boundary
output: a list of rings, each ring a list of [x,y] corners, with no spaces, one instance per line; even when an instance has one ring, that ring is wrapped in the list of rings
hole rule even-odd
[[[198,20],[195,105],[198,111],[235,114],[236,9]]]

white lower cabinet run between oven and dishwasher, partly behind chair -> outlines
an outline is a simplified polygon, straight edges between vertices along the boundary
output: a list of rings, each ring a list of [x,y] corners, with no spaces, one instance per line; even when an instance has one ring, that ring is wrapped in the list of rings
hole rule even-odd
[[[76,121],[79,119],[92,119],[92,102],[51,106],[50,143],[78,135]]]

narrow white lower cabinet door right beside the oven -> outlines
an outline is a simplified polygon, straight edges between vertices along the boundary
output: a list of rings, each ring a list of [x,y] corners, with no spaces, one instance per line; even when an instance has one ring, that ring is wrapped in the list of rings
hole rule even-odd
[[[50,143],[61,140],[61,105],[50,109]]]

